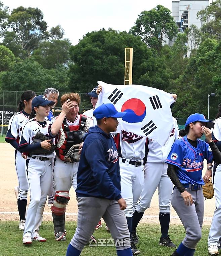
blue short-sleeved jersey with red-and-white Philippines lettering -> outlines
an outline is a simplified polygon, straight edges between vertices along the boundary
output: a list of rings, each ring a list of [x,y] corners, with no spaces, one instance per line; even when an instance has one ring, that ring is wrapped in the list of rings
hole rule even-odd
[[[183,185],[204,185],[202,178],[203,161],[213,159],[212,150],[204,140],[197,139],[197,148],[190,145],[187,137],[176,140],[166,163],[177,166],[177,176]]]

